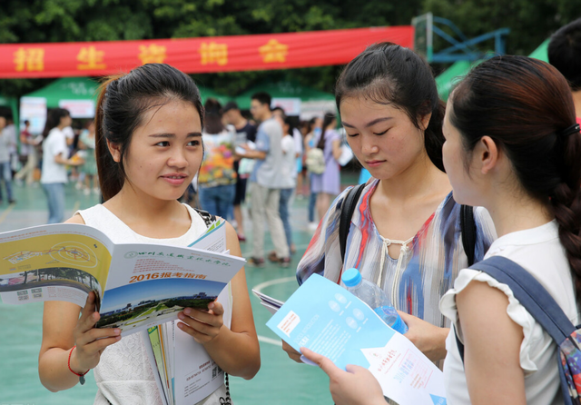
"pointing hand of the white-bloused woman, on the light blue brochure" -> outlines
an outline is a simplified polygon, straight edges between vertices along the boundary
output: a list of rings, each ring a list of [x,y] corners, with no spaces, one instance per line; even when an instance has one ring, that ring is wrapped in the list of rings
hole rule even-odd
[[[325,356],[307,348],[300,351],[329,376],[330,395],[337,405],[386,404],[381,386],[369,370],[349,364],[343,371]]]

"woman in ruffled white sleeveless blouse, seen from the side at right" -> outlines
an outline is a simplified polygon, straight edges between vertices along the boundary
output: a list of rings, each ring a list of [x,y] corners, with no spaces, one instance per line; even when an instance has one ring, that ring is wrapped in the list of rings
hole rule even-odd
[[[577,324],[581,134],[566,79],[537,59],[490,59],[452,92],[444,134],[454,197],[487,207],[499,234],[485,258],[517,262]],[[453,322],[444,364],[448,403],[564,403],[556,343],[507,284],[463,269],[439,306]],[[369,371],[346,372],[303,354],[330,374],[338,404],[384,403]]]

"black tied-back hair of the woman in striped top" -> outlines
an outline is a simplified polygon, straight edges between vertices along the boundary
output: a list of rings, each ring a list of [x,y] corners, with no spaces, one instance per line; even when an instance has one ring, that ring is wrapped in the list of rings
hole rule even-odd
[[[431,113],[424,145],[429,159],[444,172],[442,123],[446,104],[439,100],[432,70],[419,54],[389,42],[370,45],[341,72],[335,87],[337,108],[340,110],[342,99],[359,94],[401,109],[418,129],[421,117]]]

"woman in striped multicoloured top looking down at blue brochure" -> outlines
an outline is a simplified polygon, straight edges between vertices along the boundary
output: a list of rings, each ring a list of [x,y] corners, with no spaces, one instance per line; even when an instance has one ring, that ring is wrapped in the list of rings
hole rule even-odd
[[[297,269],[304,282],[319,273],[333,282],[355,267],[386,292],[409,326],[406,336],[432,361],[446,356],[449,321],[438,301],[467,267],[460,205],[442,166],[444,105],[429,65],[397,44],[369,46],[347,65],[336,86],[347,140],[374,180],[351,218],[340,254],[342,204],[331,204]],[[496,238],[486,210],[474,210],[475,257]],[[291,359],[300,353],[283,343]]]

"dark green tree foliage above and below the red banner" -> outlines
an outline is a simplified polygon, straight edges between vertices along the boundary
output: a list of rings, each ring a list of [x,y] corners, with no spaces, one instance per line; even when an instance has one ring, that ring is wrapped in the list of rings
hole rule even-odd
[[[0,43],[112,41],[286,33],[409,25],[431,11],[466,35],[507,26],[510,53],[528,54],[579,13],[579,0],[2,0]],[[294,79],[332,91],[340,66],[285,71],[198,74],[198,82],[237,94],[263,80]],[[22,95],[50,80],[2,80],[0,94]]]

